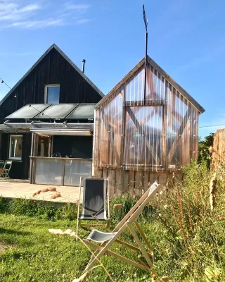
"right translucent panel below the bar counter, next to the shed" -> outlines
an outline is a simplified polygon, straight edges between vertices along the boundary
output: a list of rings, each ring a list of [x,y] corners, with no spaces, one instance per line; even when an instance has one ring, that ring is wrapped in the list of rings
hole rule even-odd
[[[79,178],[91,177],[92,161],[66,160],[64,185],[79,186]]]

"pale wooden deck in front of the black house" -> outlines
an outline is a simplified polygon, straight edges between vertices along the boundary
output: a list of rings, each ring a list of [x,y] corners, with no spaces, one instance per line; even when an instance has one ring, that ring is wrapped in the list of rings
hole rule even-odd
[[[41,192],[32,197],[34,192],[41,188],[56,187],[61,197],[51,199],[54,192]],[[55,203],[75,203],[79,199],[79,187],[58,186],[58,185],[37,185],[30,184],[28,180],[0,179],[0,196],[4,198],[23,198],[41,200]]]

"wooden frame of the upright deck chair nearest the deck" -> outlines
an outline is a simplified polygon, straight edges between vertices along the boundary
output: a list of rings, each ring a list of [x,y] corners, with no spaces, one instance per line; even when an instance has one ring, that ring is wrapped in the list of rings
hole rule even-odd
[[[106,187],[106,197],[107,197],[107,202],[108,202],[108,215],[107,215],[107,222],[105,224],[101,223],[84,223],[82,224],[81,221],[85,221],[85,219],[80,219],[79,218],[79,208],[81,207],[81,193],[82,193],[82,180],[84,179],[101,179],[101,180],[107,180],[107,187]],[[84,195],[83,195],[84,197]],[[90,221],[90,220],[89,220]],[[103,220],[102,220],[103,221]],[[78,228],[82,226],[105,226],[107,228],[110,227],[110,198],[109,198],[109,190],[108,190],[108,177],[105,178],[80,178],[79,180],[79,202],[77,204],[77,228],[76,228],[76,235],[78,236]]]

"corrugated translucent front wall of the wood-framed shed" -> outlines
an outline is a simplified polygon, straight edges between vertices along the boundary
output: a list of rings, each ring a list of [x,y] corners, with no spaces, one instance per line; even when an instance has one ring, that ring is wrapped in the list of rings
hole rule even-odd
[[[178,171],[198,157],[198,110],[152,66],[96,110],[95,166]]]

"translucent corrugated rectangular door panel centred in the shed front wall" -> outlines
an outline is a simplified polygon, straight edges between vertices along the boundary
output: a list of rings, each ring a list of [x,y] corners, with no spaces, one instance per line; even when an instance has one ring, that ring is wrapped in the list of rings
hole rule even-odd
[[[127,107],[125,166],[160,166],[161,152],[162,106]]]

